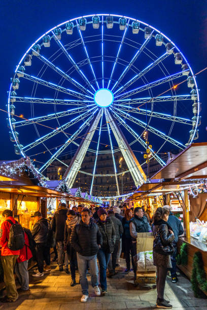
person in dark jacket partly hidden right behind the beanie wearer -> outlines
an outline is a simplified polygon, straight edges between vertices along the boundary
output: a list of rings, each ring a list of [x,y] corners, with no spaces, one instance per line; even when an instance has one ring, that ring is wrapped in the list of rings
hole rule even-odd
[[[122,238],[122,234],[123,234],[123,226],[122,226],[121,221],[115,217],[113,210],[109,210],[108,215],[114,224],[114,228],[115,228],[115,232],[116,232],[116,241],[115,241],[115,245],[114,245],[114,252],[112,253],[112,255],[110,257],[110,261],[108,263],[109,277],[113,277],[114,275],[117,274],[117,272],[115,271],[115,268],[116,268],[116,261],[117,261],[117,253],[118,253],[118,249],[119,249],[119,242],[120,242],[120,239]]]

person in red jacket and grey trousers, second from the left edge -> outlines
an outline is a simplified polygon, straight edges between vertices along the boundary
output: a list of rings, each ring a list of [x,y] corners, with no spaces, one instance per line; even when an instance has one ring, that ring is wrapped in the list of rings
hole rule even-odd
[[[18,289],[19,293],[29,290],[29,274],[28,274],[28,261],[32,257],[31,250],[29,248],[29,239],[24,231],[24,247],[20,250],[17,263],[15,265],[15,274],[19,280],[21,288]]]

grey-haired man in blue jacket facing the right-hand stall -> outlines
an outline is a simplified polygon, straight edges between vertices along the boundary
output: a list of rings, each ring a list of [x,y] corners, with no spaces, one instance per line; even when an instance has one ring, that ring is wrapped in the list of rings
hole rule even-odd
[[[177,283],[178,282],[178,278],[176,274],[177,243],[178,243],[179,236],[183,235],[184,230],[183,230],[181,221],[171,212],[170,206],[166,205],[166,206],[163,206],[163,208],[169,211],[169,217],[168,217],[167,223],[169,224],[170,227],[172,227],[172,230],[174,231],[174,236],[175,236],[175,239],[172,242],[172,245],[175,248],[175,252],[173,255],[171,255],[172,268],[170,268],[170,274],[171,274],[172,283]]]

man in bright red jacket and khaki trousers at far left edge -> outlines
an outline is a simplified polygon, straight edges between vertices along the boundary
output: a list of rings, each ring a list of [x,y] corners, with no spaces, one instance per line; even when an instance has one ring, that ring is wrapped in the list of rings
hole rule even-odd
[[[14,266],[19,256],[19,250],[12,251],[8,248],[9,232],[11,223],[7,220],[11,220],[15,224],[15,219],[11,210],[4,210],[2,213],[4,222],[1,226],[0,232],[0,246],[1,248],[1,260],[4,269],[4,282],[6,285],[7,296],[1,299],[2,302],[14,302],[18,298],[18,293],[14,280]]]

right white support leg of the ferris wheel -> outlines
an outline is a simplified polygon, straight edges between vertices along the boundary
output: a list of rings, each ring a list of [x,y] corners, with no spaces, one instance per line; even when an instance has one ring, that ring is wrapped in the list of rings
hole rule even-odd
[[[137,161],[130,145],[128,144],[126,138],[124,137],[119,125],[117,122],[113,119],[110,112],[107,110],[107,118],[109,121],[109,124],[111,126],[111,129],[114,133],[115,139],[117,140],[117,143],[119,145],[119,148],[122,152],[122,156],[126,162],[126,165],[132,175],[132,178],[134,180],[135,186],[140,186],[146,181],[146,175],[140,165],[140,163]]]

